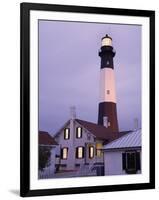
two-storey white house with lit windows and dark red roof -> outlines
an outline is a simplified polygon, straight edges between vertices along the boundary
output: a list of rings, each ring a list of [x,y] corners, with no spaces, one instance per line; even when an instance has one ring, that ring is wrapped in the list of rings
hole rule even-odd
[[[85,171],[95,166],[104,167],[103,145],[119,135],[121,133],[110,132],[105,126],[76,119],[72,115],[54,136],[60,152],[56,168]]]

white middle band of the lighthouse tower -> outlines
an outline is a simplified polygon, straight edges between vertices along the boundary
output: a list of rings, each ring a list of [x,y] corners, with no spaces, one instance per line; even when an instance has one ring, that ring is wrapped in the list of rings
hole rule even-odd
[[[112,68],[100,71],[100,102],[116,103],[115,75]]]

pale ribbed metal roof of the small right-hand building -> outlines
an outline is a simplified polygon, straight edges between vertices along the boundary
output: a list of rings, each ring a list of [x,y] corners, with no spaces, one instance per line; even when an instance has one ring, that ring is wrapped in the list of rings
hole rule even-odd
[[[104,149],[141,147],[141,129],[132,131],[104,146]]]

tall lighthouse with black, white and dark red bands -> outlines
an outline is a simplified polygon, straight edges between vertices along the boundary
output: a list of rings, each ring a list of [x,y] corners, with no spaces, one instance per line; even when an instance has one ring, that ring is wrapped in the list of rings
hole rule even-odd
[[[100,102],[98,124],[107,127],[110,132],[118,132],[114,62],[115,51],[112,38],[106,34],[102,38],[99,51],[100,67]]]

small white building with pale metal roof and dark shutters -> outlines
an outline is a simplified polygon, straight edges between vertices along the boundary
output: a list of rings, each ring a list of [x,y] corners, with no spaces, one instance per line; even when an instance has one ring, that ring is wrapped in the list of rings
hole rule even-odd
[[[104,146],[105,175],[141,173],[141,129]]]

